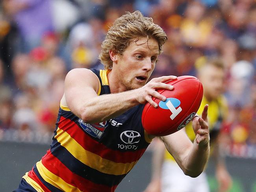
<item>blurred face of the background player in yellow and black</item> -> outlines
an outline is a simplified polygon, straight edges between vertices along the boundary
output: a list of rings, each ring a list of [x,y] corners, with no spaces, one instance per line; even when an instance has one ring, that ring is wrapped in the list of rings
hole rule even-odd
[[[204,86],[206,98],[214,100],[224,89],[224,71],[213,65],[208,65],[201,70],[199,79]]]

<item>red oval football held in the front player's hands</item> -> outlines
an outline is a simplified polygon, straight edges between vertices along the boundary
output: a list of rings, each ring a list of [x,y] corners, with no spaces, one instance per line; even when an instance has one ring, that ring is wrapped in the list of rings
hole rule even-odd
[[[203,97],[203,86],[193,76],[180,76],[166,82],[173,90],[159,89],[165,102],[154,98],[155,108],[147,103],[142,113],[142,125],[149,135],[165,136],[185,127],[195,116]]]

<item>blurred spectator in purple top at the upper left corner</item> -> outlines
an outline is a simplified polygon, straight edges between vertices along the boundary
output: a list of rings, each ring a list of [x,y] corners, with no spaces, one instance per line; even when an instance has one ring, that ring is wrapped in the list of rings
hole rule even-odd
[[[39,46],[43,35],[54,30],[50,0],[3,0],[3,6],[19,28],[22,52]]]

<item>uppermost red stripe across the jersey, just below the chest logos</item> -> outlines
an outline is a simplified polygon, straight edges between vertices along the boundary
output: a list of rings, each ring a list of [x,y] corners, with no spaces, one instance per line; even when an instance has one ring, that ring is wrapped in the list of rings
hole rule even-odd
[[[140,149],[126,152],[111,150],[104,144],[97,142],[89,135],[84,133],[74,121],[68,118],[61,116],[58,124],[60,129],[69,133],[69,135],[74,138],[76,142],[78,142],[85,150],[113,162],[131,163],[133,161],[138,161],[146,150]]]

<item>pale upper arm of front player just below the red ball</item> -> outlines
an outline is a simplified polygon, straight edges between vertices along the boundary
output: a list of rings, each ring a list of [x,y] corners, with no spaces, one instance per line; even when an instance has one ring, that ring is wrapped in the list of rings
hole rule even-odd
[[[186,135],[185,129],[177,131],[171,135],[161,137],[166,149],[173,155],[175,161],[182,166],[182,161],[187,157],[193,143]]]

